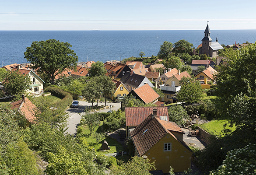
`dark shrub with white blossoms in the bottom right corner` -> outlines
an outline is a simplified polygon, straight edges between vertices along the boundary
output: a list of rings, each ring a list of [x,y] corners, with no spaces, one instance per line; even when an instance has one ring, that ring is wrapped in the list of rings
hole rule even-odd
[[[256,144],[234,149],[228,152],[222,165],[210,172],[210,175],[255,175],[256,174]]]

